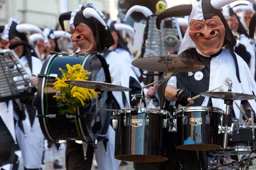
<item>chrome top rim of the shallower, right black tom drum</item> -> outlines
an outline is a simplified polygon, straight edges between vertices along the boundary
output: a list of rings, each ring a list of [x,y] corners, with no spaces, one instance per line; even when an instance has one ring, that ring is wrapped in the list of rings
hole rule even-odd
[[[175,110],[175,114],[180,114],[183,112],[200,112],[200,111],[209,111],[209,112],[217,112],[219,114],[224,114],[224,111],[218,107],[207,107],[207,106],[181,107]]]

